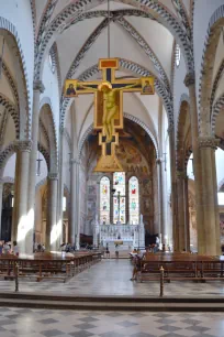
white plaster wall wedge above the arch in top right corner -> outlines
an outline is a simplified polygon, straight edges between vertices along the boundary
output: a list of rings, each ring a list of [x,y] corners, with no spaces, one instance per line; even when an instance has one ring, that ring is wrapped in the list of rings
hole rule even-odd
[[[193,19],[193,48],[195,66],[195,86],[199,104],[199,85],[202,54],[210,19],[214,11],[224,4],[223,0],[195,0]]]

